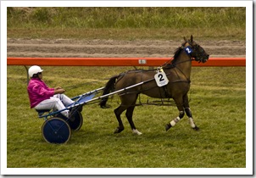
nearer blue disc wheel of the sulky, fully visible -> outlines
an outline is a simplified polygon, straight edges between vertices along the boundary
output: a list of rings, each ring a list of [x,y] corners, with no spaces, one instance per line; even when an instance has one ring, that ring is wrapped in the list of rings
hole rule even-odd
[[[42,125],[42,137],[49,143],[69,142],[71,136],[70,125],[60,118],[51,118]]]

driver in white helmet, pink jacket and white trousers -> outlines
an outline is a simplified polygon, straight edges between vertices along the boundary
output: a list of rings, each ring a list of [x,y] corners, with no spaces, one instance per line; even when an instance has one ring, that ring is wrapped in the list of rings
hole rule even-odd
[[[42,81],[42,69],[37,65],[31,66],[28,70],[31,80],[27,86],[27,92],[29,94],[31,108],[36,108],[36,110],[42,109],[53,109],[62,110],[66,106],[74,103],[63,93],[65,90],[57,86],[55,88],[49,88],[44,81]],[[65,109],[61,112],[65,117],[70,117],[70,110]]]

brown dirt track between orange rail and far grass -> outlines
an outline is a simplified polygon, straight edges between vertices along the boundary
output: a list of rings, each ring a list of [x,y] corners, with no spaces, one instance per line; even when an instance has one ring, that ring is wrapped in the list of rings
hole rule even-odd
[[[195,39],[196,40],[196,39]],[[8,57],[172,57],[181,46],[173,41],[10,39]],[[198,41],[196,41],[198,42]],[[198,42],[211,58],[245,57],[245,42]]]

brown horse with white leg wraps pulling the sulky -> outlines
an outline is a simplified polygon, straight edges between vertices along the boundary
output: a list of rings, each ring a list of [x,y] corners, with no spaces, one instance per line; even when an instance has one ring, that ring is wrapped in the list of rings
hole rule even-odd
[[[126,110],[125,115],[131,125],[132,131],[137,135],[142,134],[140,131],[136,130],[136,126],[132,120],[133,110],[136,106],[136,99],[140,93],[145,94],[148,97],[174,99],[175,105],[179,110],[179,116],[174,120],[171,120],[170,123],[165,126],[166,131],[181,120],[185,113],[189,118],[192,128],[198,131],[199,128],[195,125],[192,119],[192,112],[189,108],[187,92],[190,89],[192,60],[196,60],[199,63],[205,63],[209,59],[209,54],[204,51],[203,47],[200,47],[193,41],[192,36],[190,40],[187,40],[186,37],[184,37],[184,40],[185,42],[181,47],[176,49],[173,60],[170,60],[170,62],[161,66],[159,70],[131,70],[120,75],[115,75],[107,82],[103,95],[114,90],[117,91],[128,87],[127,90],[119,93],[121,104],[118,108],[114,109],[114,114],[119,122],[119,126],[114,133],[120,133],[125,129],[120,114]],[[154,76],[158,73],[163,74],[163,71],[165,73],[165,79],[163,76],[159,75],[159,81],[165,80],[165,82],[169,82],[164,84],[165,86],[159,86],[157,84],[157,78],[155,79]],[[129,87],[140,82],[142,82],[142,85],[131,88]],[[104,97],[100,102],[100,106],[102,108],[106,107],[107,101],[108,97]]]

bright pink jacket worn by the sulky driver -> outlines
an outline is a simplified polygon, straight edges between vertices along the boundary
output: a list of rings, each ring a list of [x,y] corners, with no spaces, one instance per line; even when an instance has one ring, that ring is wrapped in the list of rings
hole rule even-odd
[[[27,86],[27,91],[31,102],[31,108],[36,107],[37,104],[54,95],[54,88],[49,88],[44,81],[37,78],[31,78],[31,81]]]

